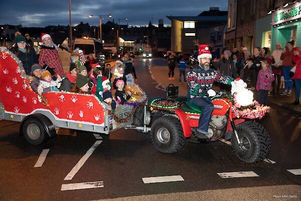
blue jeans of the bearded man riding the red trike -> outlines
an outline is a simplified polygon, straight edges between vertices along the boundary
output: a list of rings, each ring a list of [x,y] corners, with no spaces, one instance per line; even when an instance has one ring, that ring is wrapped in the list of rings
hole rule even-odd
[[[190,98],[190,94],[187,95],[187,104],[190,108],[196,111],[202,111],[197,131],[207,134],[211,115],[214,109],[213,104],[202,97]]]

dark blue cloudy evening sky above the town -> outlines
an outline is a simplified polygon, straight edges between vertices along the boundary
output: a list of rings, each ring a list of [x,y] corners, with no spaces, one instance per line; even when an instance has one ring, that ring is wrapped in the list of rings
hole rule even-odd
[[[72,26],[80,22],[90,25],[99,25],[99,17],[89,18],[89,15],[113,16],[110,21],[120,20],[120,24],[132,26],[145,26],[149,21],[158,25],[159,19],[164,20],[164,25],[171,25],[166,16],[198,16],[210,7],[219,7],[220,11],[227,11],[227,0],[103,0],[79,1],[71,0]],[[102,23],[106,23],[104,17]],[[69,25],[69,1],[36,1],[36,0],[1,0],[0,25],[22,25],[23,27],[46,27],[48,25]]]

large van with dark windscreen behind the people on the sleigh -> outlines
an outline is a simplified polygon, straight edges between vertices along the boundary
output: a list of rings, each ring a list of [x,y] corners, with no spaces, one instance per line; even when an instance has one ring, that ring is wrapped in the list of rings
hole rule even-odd
[[[96,62],[104,67],[105,56],[103,44],[101,43],[101,41],[96,40],[95,38],[75,38],[73,50],[75,50],[76,48],[83,50],[86,57],[89,54],[93,54]]]

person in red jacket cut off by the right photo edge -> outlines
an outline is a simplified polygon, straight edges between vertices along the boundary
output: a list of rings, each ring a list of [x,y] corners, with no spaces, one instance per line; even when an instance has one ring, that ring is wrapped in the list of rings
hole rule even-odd
[[[301,54],[300,52],[294,50],[293,54],[297,56],[296,61],[296,70],[294,72],[294,75],[292,76],[292,79],[295,81],[295,101],[292,103],[292,105],[297,106],[299,105],[299,97],[300,97],[300,90],[301,90]]]

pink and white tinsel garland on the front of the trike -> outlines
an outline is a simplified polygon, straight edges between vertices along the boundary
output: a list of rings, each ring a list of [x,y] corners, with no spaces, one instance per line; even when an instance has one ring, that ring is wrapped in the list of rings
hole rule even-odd
[[[232,106],[232,113],[236,117],[247,117],[250,119],[261,119],[265,113],[269,112],[270,107],[260,106],[256,100],[249,106],[241,107],[238,104]]]

